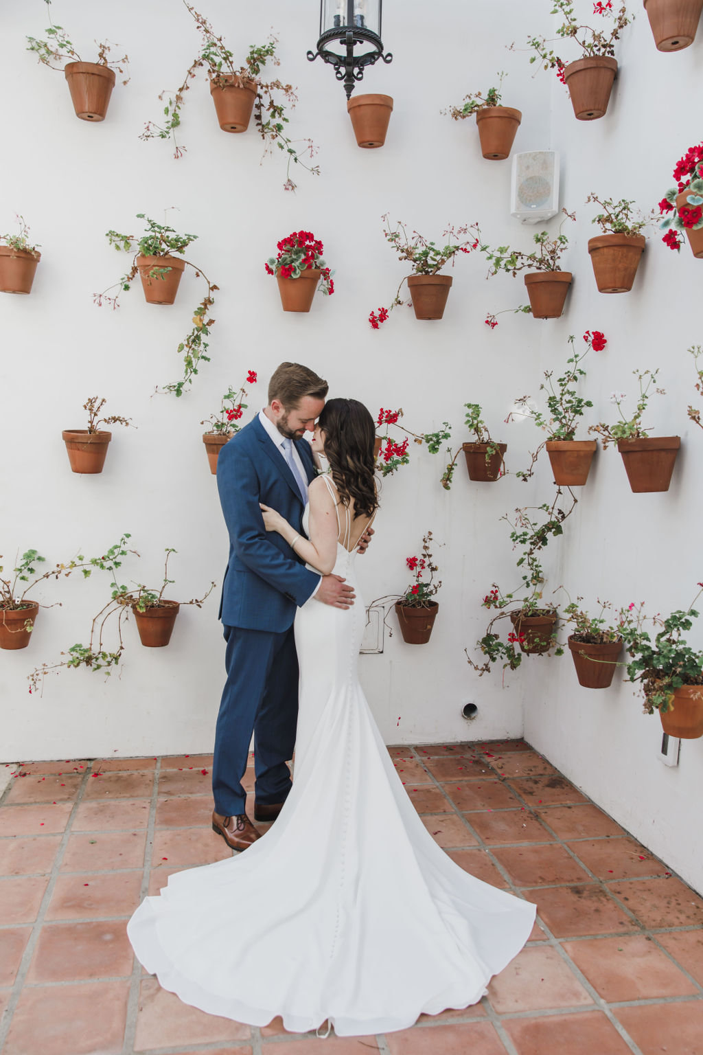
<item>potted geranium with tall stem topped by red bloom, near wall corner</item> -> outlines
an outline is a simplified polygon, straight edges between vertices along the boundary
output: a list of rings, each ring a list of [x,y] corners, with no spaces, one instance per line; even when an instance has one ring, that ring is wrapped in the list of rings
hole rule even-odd
[[[600,330],[593,330],[592,333],[586,330],[583,339],[586,342],[586,350],[579,352],[573,346],[573,337],[569,337],[571,354],[566,361],[566,370],[561,378],[556,378],[555,387],[552,371],[545,371],[545,383],[540,385],[540,391],[546,392],[547,413],[544,414],[535,407],[529,396],[522,396],[515,400],[516,409],[511,410],[506,419],[510,421],[516,416],[532,418],[538,428],[547,433],[547,439],[532,455],[530,468],[526,473],[518,474],[523,479],[532,475],[534,463],[543,447],[547,449],[555,484],[563,487],[582,487],[588,479],[598,444],[595,440],[577,440],[575,430],[578,419],[593,404],[590,400],[577,395],[577,385],[581,378],[586,377],[586,371],[581,367],[584,358],[591,348],[594,351],[602,351],[608,342]]]

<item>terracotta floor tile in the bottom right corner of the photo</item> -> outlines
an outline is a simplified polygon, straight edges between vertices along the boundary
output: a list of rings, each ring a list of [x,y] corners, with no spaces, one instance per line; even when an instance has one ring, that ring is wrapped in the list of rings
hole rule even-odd
[[[613,1008],[642,1055],[701,1055],[703,1052],[703,1000],[648,1003]]]

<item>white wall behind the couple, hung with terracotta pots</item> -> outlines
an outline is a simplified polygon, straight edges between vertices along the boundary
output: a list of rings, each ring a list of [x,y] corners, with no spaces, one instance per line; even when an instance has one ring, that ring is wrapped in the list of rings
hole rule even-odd
[[[253,128],[238,136],[219,131],[202,76],[183,112],[183,158],[173,160],[168,143],[138,139],[143,122],[158,116],[158,93],[180,82],[197,49],[195,28],[178,4],[54,4],[55,20],[84,57],[91,57],[94,37],[106,36],[131,58],[131,83],[118,84],[108,119],[93,127],[73,115],[62,75],[40,68],[24,51],[25,35],[41,35],[43,5],[3,14],[0,229],[12,229],[14,213],[22,213],[42,247],[32,295],[5,295],[0,304],[5,569],[18,550],[34,546],[54,562],[76,552],[97,554],[130,531],[142,558],[124,564],[125,578],[155,580],[163,548],[173,545],[172,596],[196,596],[211,579],[219,589],[227,536],[199,422],[247,369],[260,379],[249,414],[265,402],[268,377],[284,359],[309,364],[328,378],[332,395],[362,399],[374,414],[380,405],[403,406],[416,430],[448,420],[457,442],[466,438],[463,404],[480,402],[495,438],[508,442],[514,469],[539,437],[529,423],[502,424],[513,399],[536,394],[542,371],[563,364],[569,333],[581,341],[585,329],[601,329],[608,346],[586,364],[595,403],[587,423],[612,410],[607,397],[613,388],[632,391],[632,369],[661,365],[667,396],[652,401],[648,418],[657,431],[680,434],[683,447],[671,490],[659,496],[632,495],[620,456],[599,453],[564,538],[549,546],[549,583],[564,582],[588,601],[646,598],[655,611],[688,602],[701,577],[695,543],[703,436],[685,413],[697,399],[686,348],[700,340],[701,265],[687,247],[680,256],[671,253],[655,232],[632,292],[599,294],[586,250],[597,232],[584,199],[591,190],[637,198],[645,209],[660,199],[675,161],[699,136],[694,84],[703,44],[661,55],[638,7],[620,47],[621,75],[608,114],[578,122],[553,75],[534,75],[527,53],[506,51],[528,34],[549,34],[547,4],[442,0],[428,7],[408,0],[386,7],[384,39],[394,61],[368,71],[356,91],[390,94],[395,110],[386,146],[362,151],[341,85],[330,69],[305,58],[316,39],[316,3],[268,0],[237,5],[236,14],[226,0],[207,4],[206,14],[235,51],[263,40],[271,26],[280,37],[278,73],[299,90],[289,129],[313,138],[321,169],[316,178],[295,171],[295,194],[281,189],[279,156],[259,166],[261,143]],[[479,220],[493,244],[529,248],[534,229],[509,216],[510,162],[483,160],[473,122],[440,115],[468,91],[485,91],[497,70],[508,72],[504,102],[523,111],[514,149],[562,153],[562,202],[578,214],[578,223],[567,225],[565,266],[575,277],[566,312],[548,322],[504,314],[490,331],[486,311],[525,303],[526,295],[520,277],[486,283],[485,263],[475,255],[462,257],[451,272],[454,286],[442,322],[417,322],[404,308],[373,331],[369,311],[389,302],[404,274],[384,241],[383,213],[435,241],[449,223]],[[16,77],[21,107],[12,102],[19,97]],[[686,83],[690,91],[682,88]],[[172,308],[145,305],[137,287],[116,312],[92,303],[93,292],[117,279],[125,261],[110,249],[104,232],[136,231],[137,212],[158,219],[172,206],[178,211],[167,214],[169,222],[198,233],[192,258],[220,287],[212,362],[180,400],[152,392],[178,377],[175,346],[202,295],[192,273]],[[284,313],[263,270],[276,241],[299,228],[324,241],[336,270],[334,296],[317,296],[309,315]],[[70,472],[61,429],[82,424],[81,404],[93,394],[108,397],[108,411],[131,416],[138,430],[116,426],[105,471],[91,478]],[[493,579],[512,583],[518,577],[499,518],[549,497],[547,463],[529,485],[514,477],[495,485],[470,483],[462,464],[446,493],[438,483],[442,456],[417,447],[412,455],[412,465],[384,485],[378,531],[362,558],[364,593],[371,600],[405,588],[405,558],[418,552],[428,528],[440,543],[444,586],[427,647],[405,646],[395,633],[383,655],[362,658],[387,742],[500,737],[524,728],[530,743],[701,888],[700,849],[682,807],[686,791],[695,793],[703,780],[700,742],[684,744],[679,768],[666,769],[655,756],[658,720],[641,715],[631,689],[580,689],[568,656],[529,660],[505,687],[500,671],[479,679],[466,664],[464,648],[473,648],[486,624],[481,597]],[[27,694],[26,674],[85,640],[108,596],[106,576],[97,574],[87,582],[47,584],[37,599],[62,607],[41,613],[27,649],[0,654],[0,754],[208,750],[223,676],[217,593],[201,612],[182,610],[169,649],[142,649],[130,625],[122,664],[111,678],[63,671],[46,679],[39,697]],[[694,639],[700,642],[700,633]],[[460,711],[469,699],[479,716],[467,726]]]

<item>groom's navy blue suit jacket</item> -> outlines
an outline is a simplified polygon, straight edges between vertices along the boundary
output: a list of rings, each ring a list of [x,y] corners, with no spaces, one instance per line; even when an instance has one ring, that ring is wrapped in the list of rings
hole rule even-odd
[[[310,444],[293,442],[310,482],[315,476]],[[296,607],[314,592],[319,575],[305,567],[277,532],[263,526],[259,502],[299,532],[304,504],[295,477],[258,416],[220,449],[217,490],[230,534],[219,617],[228,627],[281,633],[293,622]]]

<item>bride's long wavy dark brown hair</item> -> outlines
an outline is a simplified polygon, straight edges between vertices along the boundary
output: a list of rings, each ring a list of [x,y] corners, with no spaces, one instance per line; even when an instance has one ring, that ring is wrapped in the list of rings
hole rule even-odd
[[[355,399],[331,399],[317,422],[325,433],[325,457],[344,505],[354,499],[354,519],[373,516],[378,506],[375,486],[373,418]]]

